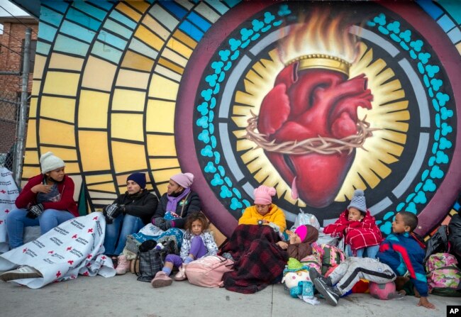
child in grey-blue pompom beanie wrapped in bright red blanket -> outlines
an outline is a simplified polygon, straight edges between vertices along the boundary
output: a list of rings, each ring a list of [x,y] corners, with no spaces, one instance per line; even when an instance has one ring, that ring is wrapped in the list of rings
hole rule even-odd
[[[374,223],[374,217],[367,210],[365,195],[356,189],[348,208],[340,214],[335,223],[326,226],[323,233],[345,236],[349,256],[375,258],[382,241],[381,230]]]

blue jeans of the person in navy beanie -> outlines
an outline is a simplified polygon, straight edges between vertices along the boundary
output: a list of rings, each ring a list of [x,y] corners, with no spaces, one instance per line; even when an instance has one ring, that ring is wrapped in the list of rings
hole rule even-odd
[[[106,223],[106,238],[104,249],[106,255],[121,255],[126,245],[126,236],[138,233],[144,223],[139,217],[121,214],[113,219],[113,223]]]

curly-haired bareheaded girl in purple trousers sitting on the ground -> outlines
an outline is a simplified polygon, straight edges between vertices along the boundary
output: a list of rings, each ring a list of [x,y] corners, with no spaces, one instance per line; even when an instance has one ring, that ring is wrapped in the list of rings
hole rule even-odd
[[[167,287],[172,284],[170,274],[173,267],[178,267],[179,272],[174,276],[174,280],[182,281],[186,279],[186,265],[190,262],[218,254],[218,246],[211,233],[207,232],[209,223],[203,213],[191,213],[187,216],[184,228],[184,238],[182,240],[181,252],[179,255],[167,255],[165,266],[160,272],[155,274],[152,279],[152,287]]]

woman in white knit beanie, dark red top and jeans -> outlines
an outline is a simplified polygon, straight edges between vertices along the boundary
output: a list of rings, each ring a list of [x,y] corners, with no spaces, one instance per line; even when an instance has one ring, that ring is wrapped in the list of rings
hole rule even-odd
[[[65,162],[46,152],[40,157],[42,173],[30,178],[6,217],[10,248],[23,245],[24,227],[40,226],[40,233],[79,216],[74,201],[74,182],[65,172]]]

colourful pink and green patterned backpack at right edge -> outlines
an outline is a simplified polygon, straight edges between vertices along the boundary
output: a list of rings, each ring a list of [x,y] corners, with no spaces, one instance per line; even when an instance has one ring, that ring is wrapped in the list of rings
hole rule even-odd
[[[450,253],[435,253],[426,263],[429,293],[439,296],[461,296],[461,271]]]

